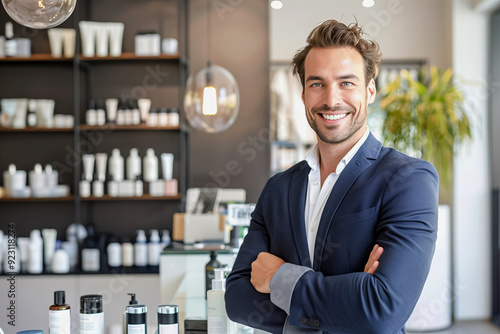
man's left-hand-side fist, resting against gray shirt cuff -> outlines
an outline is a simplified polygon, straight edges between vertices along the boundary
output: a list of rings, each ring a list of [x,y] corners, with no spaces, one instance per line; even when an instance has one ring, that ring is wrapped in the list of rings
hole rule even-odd
[[[257,259],[252,262],[252,274],[250,283],[260,293],[271,293],[269,283],[278,269],[285,263],[273,254],[261,252]]]

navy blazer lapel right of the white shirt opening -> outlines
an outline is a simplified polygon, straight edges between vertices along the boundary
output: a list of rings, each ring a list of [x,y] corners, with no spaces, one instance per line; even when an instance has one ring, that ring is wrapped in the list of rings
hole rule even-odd
[[[323,249],[328,239],[328,231],[332,224],[333,217],[337,212],[340,203],[349,191],[353,183],[363,171],[371,165],[371,161],[378,157],[382,144],[370,133],[365,143],[359,148],[352,160],[347,164],[340,174],[335,186],[328,197],[323,214],[318,226],[318,233],[314,244],[314,266],[315,271],[321,270],[323,261]]]

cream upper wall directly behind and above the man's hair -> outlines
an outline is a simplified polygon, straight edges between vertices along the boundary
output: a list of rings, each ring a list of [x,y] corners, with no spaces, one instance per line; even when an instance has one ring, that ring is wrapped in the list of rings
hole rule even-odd
[[[376,40],[385,59],[427,59],[451,66],[451,21],[448,0],[376,0],[365,8],[361,0],[285,0],[271,10],[271,61],[290,60],[307,35],[326,19],[344,23],[356,19]]]

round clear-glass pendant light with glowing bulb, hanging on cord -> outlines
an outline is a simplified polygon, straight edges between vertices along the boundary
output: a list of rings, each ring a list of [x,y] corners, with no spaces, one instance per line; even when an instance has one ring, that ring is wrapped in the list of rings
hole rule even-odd
[[[207,0],[207,49],[210,57],[210,0]],[[209,133],[227,130],[239,110],[238,84],[231,72],[207,62],[186,83],[184,112],[191,127]]]

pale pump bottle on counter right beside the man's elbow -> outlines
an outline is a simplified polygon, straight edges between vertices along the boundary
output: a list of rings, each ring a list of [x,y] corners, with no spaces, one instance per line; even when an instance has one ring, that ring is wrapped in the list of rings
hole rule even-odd
[[[226,334],[229,328],[229,318],[226,313],[224,294],[226,279],[224,269],[215,269],[215,279],[212,280],[212,290],[207,292],[207,333]]]

